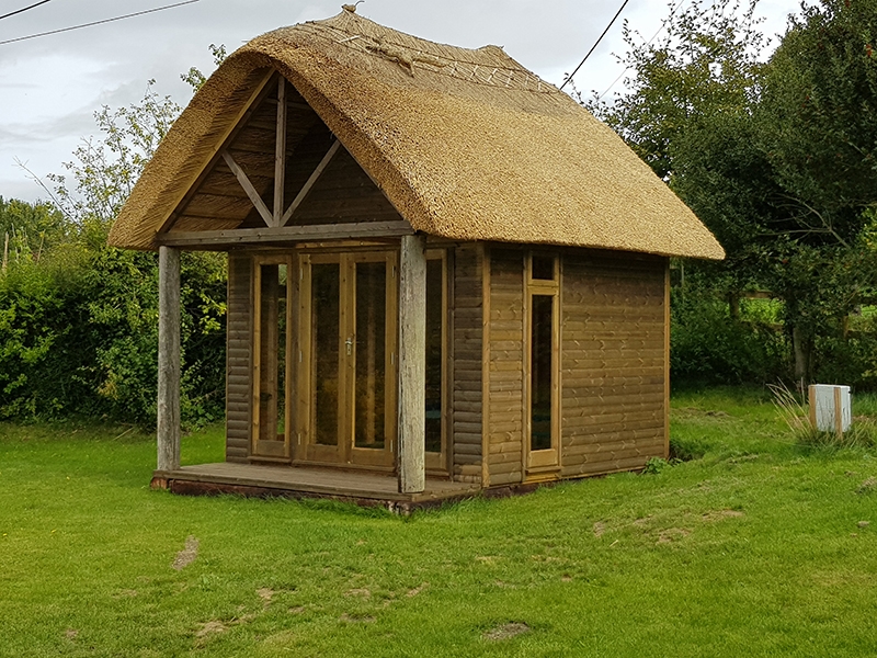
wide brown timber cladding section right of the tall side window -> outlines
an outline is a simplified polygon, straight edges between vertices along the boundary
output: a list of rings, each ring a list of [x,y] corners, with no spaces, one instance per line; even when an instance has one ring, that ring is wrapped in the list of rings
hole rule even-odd
[[[563,477],[665,456],[665,268],[660,257],[563,252]]]

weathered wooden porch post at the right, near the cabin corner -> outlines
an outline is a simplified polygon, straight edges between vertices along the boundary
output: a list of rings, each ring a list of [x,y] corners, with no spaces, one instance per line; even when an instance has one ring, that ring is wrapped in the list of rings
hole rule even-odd
[[[399,492],[426,488],[426,240],[402,236],[399,261]]]

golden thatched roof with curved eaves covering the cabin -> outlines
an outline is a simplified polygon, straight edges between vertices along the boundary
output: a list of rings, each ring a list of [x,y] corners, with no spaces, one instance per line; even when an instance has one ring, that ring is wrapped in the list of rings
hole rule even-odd
[[[232,54],[160,145],[111,243],[156,247],[267,69],[292,82],[415,230],[724,257],[615,133],[501,48],[435,44],[350,11]]]

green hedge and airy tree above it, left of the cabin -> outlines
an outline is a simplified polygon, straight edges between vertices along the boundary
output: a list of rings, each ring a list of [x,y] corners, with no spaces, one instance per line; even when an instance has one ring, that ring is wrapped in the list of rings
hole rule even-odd
[[[157,258],[106,245],[180,111],[153,86],[139,103],[95,112],[102,137],[84,139],[66,174],[49,177],[54,189],[44,185],[55,205],[0,203],[0,228],[27,236],[0,273],[2,417],[155,422]],[[226,263],[223,254],[184,253],[181,265],[182,410],[189,421],[208,420],[224,400]]]

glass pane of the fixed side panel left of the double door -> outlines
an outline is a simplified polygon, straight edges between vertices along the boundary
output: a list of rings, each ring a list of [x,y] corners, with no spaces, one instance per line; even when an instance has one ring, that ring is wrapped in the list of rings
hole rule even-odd
[[[285,440],[286,265],[260,265],[259,440]]]

